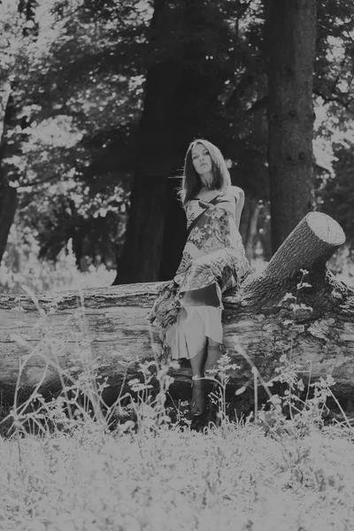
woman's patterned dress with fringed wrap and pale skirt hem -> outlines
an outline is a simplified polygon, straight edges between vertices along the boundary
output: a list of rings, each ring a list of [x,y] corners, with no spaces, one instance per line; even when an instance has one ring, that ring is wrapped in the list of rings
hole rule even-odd
[[[230,189],[210,202],[192,199],[185,211],[189,236],[181,264],[150,312],[172,358],[196,356],[207,338],[222,343],[222,293],[250,271]]]

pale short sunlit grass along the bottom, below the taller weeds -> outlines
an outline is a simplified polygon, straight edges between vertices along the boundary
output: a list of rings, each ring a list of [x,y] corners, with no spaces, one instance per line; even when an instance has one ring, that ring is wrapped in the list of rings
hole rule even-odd
[[[354,452],[338,427],[136,435],[87,421],[71,435],[0,441],[0,489],[8,531],[341,531],[354,521]]]

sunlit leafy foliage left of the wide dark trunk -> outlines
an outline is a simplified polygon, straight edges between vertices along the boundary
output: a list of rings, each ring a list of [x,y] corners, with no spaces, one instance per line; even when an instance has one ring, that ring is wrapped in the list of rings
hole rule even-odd
[[[113,8],[97,19],[94,4],[48,7],[42,0],[38,9],[46,31],[41,33],[36,3],[20,2],[17,17],[26,38],[12,35],[18,24],[14,19],[12,27],[13,9],[4,21],[4,47],[13,37],[7,68],[14,81],[4,111],[1,167],[7,193],[0,198],[0,242],[4,248],[16,211],[9,197],[17,196],[17,222],[33,227],[43,258],[56,259],[72,238],[78,266],[86,257],[114,267],[134,160],[130,137],[140,112],[141,68],[136,65],[146,15],[141,10],[134,16],[138,3],[132,0],[121,9],[115,6],[112,23]],[[122,14],[125,25],[118,24]],[[22,20],[25,15],[32,19]],[[140,39],[135,39],[136,27]]]

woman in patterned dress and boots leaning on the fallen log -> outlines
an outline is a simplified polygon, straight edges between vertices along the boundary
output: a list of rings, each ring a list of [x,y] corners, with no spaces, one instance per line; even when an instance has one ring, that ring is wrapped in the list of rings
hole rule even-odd
[[[191,142],[186,154],[181,201],[188,239],[181,264],[150,313],[172,358],[189,358],[191,413],[205,411],[205,370],[221,356],[222,292],[235,288],[250,269],[238,231],[244,195],[231,186],[219,149]]]

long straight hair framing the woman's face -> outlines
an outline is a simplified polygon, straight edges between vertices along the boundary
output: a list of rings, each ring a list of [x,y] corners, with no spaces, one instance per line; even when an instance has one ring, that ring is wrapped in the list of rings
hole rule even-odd
[[[181,189],[179,192],[181,202],[186,204],[195,197],[202,188],[202,181],[196,173],[192,160],[192,150],[196,144],[204,145],[204,148],[209,151],[212,159],[212,185],[211,189],[223,190],[231,185],[230,173],[227,170],[225,159],[223,158],[219,148],[214,146],[212,142],[204,139],[196,139],[190,142],[189,149],[184,160],[183,179]]]

